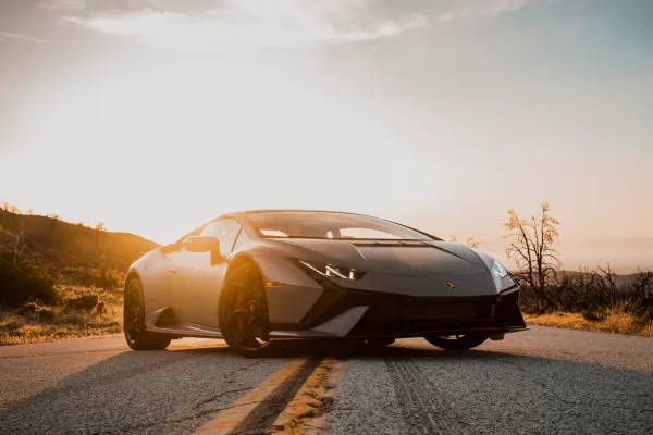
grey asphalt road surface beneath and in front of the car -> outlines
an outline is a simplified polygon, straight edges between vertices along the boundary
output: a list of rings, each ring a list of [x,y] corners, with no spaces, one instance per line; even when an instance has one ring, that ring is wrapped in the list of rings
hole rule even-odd
[[[303,414],[316,433],[653,433],[652,338],[541,326],[467,352],[423,339],[369,351],[292,347],[268,359],[215,340],[144,352],[122,338],[1,347],[0,433],[193,433],[295,364],[296,387],[272,395],[258,427],[236,431],[266,433],[323,358],[343,370],[329,387],[328,424],[315,428]]]

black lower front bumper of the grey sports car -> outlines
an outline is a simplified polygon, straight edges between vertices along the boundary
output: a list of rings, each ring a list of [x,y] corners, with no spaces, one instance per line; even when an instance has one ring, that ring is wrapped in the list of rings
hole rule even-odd
[[[500,294],[414,297],[344,288],[324,290],[296,323],[271,323],[273,338],[414,337],[428,334],[500,334],[526,330],[519,287]]]

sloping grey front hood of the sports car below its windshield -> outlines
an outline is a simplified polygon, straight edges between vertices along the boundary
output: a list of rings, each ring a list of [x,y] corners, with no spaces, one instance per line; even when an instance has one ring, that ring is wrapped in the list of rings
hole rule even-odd
[[[470,275],[488,271],[476,252],[465,245],[448,241],[334,239],[282,239],[280,241],[342,260],[343,263],[340,265],[352,265],[367,272],[403,275],[433,273]]]

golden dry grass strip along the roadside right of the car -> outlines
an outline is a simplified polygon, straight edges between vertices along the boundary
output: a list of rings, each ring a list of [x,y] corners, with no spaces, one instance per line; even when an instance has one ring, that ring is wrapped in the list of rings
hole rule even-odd
[[[535,325],[568,327],[572,330],[605,331],[620,334],[637,334],[653,337],[653,321],[642,321],[619,310],[609,311],[596,321],[588,320],[580,313],[557,312],[543,315],[525,315],[528,323]]]

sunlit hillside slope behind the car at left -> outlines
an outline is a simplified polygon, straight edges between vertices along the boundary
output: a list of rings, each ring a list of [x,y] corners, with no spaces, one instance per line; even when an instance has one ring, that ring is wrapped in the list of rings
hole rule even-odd
[[[160,246],[135,234],[98,231],[52,217],[0,209],[0,243],[17,235],[23,235],[34,251],[56,258],[63,266],[103,262],[119,271],[126,271],[141,252]]]

